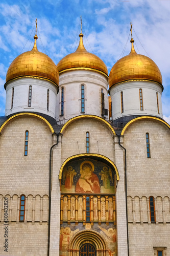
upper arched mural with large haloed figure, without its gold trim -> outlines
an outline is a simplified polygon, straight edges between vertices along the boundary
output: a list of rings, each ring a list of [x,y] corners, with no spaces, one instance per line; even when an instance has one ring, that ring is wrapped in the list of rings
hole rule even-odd
[[[71,161],[63,169],[61,192],[114,193],[113,170],[107,164],[93,159]]]

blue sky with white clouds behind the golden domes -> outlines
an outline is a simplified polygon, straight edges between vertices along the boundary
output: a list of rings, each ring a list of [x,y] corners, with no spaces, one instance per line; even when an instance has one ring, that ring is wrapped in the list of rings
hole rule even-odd
[[[99,56],[109,72],[130,52],[132,22],[136,52],[151,57],[162,73],[163,115],[170,123],[170,0],[4,0],[0,4],[0,116],[5,114],[8,67],[20,53],[32,49],[35,19],[38,50],[57,64],[78,46],[80,15],[86,50]]]

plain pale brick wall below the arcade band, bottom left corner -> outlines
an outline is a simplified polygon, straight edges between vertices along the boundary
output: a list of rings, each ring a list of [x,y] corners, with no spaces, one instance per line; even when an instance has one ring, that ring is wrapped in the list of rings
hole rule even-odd
[[[4,225],[0,225],[1,255],[38,256],[47,255],[47,223],[14,223],[8,225],[8,252],[4,251]]]

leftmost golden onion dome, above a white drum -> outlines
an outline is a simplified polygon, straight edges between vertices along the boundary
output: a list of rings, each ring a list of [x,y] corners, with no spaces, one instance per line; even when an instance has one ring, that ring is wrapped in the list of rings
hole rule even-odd
[[[34,47],[31,51],[20,54],[12,61],[7,71],[6,82],[20,77],[38,77],[51,80],[58,86],[59,74],[56,65],[50,57],[37,50],[37,38],[38,36],[35,35]]]

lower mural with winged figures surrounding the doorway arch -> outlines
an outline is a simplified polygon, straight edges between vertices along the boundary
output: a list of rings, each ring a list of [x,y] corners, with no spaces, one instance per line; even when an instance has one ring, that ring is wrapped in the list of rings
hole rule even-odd
[[[106,241],[107,249],[108,249],[108,255],[109,256],[117,256],[117,246],[116,246],[116,227],[113,224],[101,224],[94,223],[93,226],[91,226],[90,223],[86,223],[84,226],[82,223],[79,223],[78,225],[70,224],[67,225],[67,223],[63,223],[60,227],[60,256],[67,256],[68,255],[68,247],[69,242],[78,231],[81,231],[83,229],[94,230],[101,234],[103,239]]]

